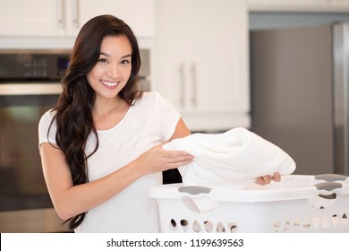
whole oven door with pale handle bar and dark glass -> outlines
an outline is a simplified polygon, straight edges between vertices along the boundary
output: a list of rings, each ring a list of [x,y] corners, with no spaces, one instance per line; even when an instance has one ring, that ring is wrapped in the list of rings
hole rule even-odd
[[[66,231],[47,192],[38,121],[53,108],[60,83],[0,84],[0,232]]]

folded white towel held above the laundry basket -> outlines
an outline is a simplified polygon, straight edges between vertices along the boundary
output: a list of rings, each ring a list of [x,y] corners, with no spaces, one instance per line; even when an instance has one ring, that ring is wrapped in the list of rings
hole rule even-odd
[[[179,168],[184,186],[243,188],[256,177],[294,172],[294,160],[273,143],[243,127],[223,134],[192,134],[163,146],[187,151],[192,163]]]

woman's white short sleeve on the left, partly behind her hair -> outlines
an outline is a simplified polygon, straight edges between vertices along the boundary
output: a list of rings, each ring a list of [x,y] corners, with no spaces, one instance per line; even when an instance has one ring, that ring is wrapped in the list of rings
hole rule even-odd
[[[54,119],[54,111],[48,110],[38,122],[38,145],[41,143],[55,143],[55,133],[56,133],[56,125],[52,123],[52,119]],[[50,127],[51,125],[51,127]],[[49,129],[49,134],[47,134]]]

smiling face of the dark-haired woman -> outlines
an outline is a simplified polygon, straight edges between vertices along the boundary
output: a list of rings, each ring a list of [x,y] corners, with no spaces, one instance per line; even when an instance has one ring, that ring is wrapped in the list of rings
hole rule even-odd
[[[96,99],[114,99],[123,90],[132,69],[132,47],[127,37],[106,36],[100,46],[98,63],[86,74]]]

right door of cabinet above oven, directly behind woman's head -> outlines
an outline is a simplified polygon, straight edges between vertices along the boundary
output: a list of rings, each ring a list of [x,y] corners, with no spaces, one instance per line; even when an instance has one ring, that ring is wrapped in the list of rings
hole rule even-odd
[[[155,0],[79,1],[79,26],[100,14],[112,14],[126,22],[137,37],[155,36]]]

